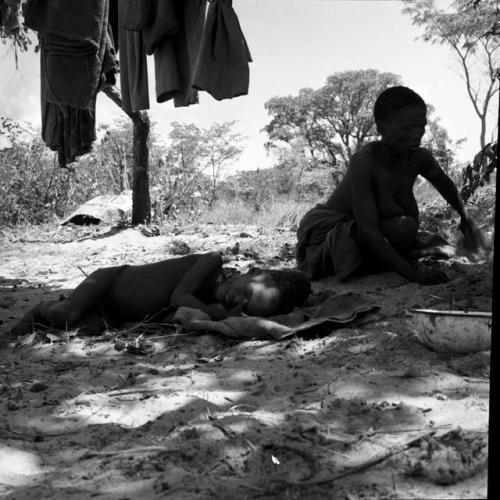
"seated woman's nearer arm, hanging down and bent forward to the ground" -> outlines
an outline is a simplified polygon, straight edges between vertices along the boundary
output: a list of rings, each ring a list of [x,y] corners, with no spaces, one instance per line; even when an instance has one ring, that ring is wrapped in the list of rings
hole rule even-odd
[[[380,262],[388,265],[404,278],[422,285],[441,283],[444,280],[432,271],[417,271],[396,251],[380,232],[377,205],[372,189],[372,163],[369,153],[354,155],[351,164],[351,199],[358,239]]]

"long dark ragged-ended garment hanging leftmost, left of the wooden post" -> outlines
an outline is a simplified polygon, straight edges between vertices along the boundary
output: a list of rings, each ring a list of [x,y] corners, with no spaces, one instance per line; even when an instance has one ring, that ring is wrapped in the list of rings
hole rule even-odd
[[[108,0],[31,0],[26,25],[40,40],[42,137],[66,166],[95,140],[95,101],[116,61],[108,33]]]

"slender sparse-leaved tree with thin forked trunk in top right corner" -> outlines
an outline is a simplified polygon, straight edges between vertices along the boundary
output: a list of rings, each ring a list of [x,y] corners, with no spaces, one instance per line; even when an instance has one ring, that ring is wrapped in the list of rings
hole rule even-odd
[[[422,39],[452,49],[464,77],[467,94],[479,118],[479,143],[486,146],[488,110],[498,92],[500,10],[496,0],[455,0],[451,10],[435,0],[403,0],[403,12],[424,29]]]

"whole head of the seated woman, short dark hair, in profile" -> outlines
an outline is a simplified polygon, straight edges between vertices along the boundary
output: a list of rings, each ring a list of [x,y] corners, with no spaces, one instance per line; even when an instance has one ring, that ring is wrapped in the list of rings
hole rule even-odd
[[[389,87],[375,101],[373,115],[382,141],[398,151],[415,149],[427,125],[424,100],[408,87]]]

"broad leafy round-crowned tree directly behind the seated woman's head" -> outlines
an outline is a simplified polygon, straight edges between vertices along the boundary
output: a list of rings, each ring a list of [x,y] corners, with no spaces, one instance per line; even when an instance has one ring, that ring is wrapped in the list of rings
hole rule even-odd
[[[308,153],[313,166],[319,163],[335,167],[331,173],[336,182],[352,155],[377,137],[373,106],[377,96],[394,85],[401,85],[401,79],[392,73],[375,69],[344,71],[329,76],[318,90],[302,89],[296,97],[274,97],[265,104],[272,116],[265,127],[268,148],[280,152],[280,163],[290,158],[283,153],[283,144],[294,158]],[[456,144],[439,124],[439,118],[432,117],[434,108],[428,106],[428,111],[423,146],[445,169],[450,169]]]

